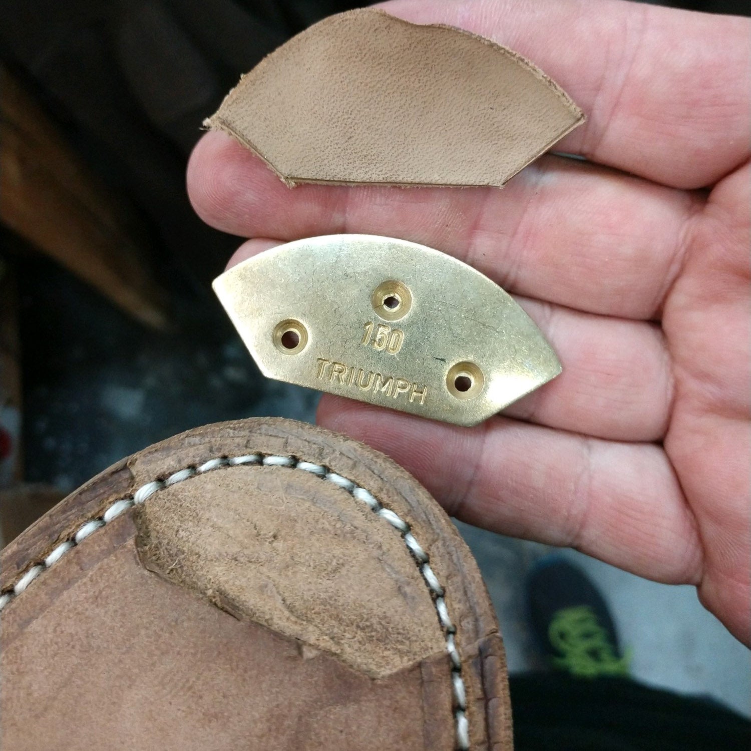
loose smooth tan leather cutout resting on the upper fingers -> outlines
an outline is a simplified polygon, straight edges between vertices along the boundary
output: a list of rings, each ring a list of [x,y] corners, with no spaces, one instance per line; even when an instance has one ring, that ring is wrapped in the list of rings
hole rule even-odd
[[[566,92],[517,53],[363,9],[279,47],[205,125],[288,185],[503,185],[581,122]]]

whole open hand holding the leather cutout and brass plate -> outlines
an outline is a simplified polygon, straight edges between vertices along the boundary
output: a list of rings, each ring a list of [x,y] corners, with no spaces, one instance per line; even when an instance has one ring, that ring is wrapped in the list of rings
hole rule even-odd
[[[589,114],[562,147],[590,161],[544,157],[502,191],[289,191],[207,134],[195,207],[257,238],[236,261],[279,240],[387,234],[517,294],[564,371],[503,417],[466,430],[324,397],[319,421],[391,454],[464,520],[696,584],[749,641],[749,26],[620,2],[387,8],[541,65]]]

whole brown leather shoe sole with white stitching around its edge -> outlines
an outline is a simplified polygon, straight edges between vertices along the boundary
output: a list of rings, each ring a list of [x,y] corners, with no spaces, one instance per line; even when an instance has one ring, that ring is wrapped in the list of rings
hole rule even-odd
[[[2,553],[2,747],[510,749],[472,554],[412,476],[279,419],[201,427]]]

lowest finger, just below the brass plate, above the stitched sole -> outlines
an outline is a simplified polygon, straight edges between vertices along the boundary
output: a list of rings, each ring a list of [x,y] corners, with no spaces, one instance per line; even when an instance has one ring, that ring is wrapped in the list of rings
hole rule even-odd
[[[318,422],[389,454],[449,514],[698,584],[701,544],[664,452],[492,418],[459,428],[324,396]]]

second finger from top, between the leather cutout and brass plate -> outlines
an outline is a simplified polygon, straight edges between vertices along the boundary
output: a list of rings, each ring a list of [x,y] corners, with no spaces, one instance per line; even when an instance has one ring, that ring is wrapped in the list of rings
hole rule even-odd
[[[545,157],[504,189],[300,185],[290,190],[222,133],[188,171],[198,214],[243,237],[358,232],[467,261],[508,291],[626,318],[659,312],[703,198],[571,159]]]

